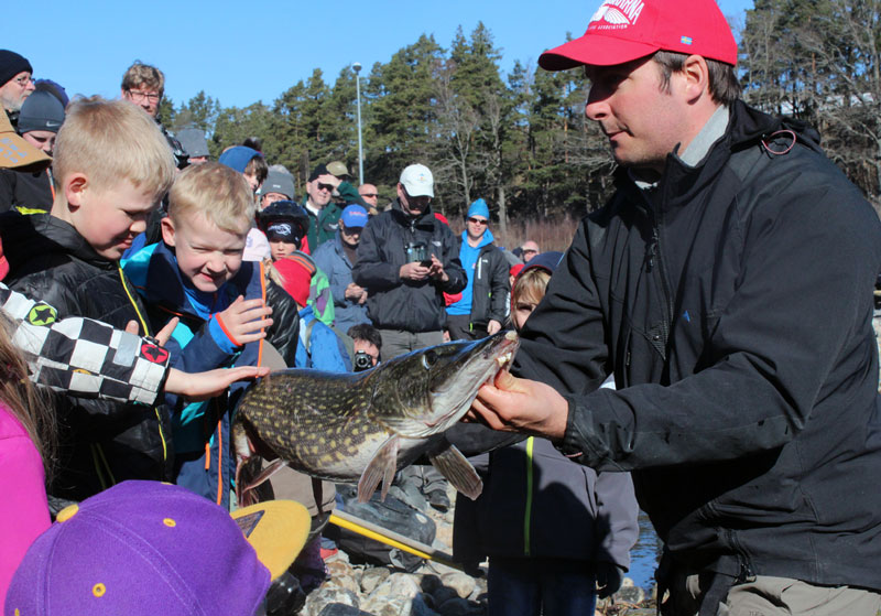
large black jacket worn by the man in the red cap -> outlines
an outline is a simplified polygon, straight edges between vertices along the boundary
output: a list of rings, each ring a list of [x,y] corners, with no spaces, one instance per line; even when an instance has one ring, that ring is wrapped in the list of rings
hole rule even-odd
[[[878,216],[816,133],[738,102],[652,205],[622,176],[583,220],[516,369],[567,392],[564,453],[633,469],[674,560],[878,591],[879,270]]]

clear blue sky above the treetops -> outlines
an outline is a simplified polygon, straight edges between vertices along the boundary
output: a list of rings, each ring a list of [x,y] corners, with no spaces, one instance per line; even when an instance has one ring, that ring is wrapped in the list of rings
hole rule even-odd
[[[752,0],[717,1],[739,24],[752,8]],[[503,72],[515,60],[534,66],[539,54],[565,41],[567,31],[581,34],[599,3],[19,1],[3,9],[0,47],[28,57],[35,77],[55,79],[68,94],[118,96],[122,74],[137,58],[165,73],[165,93],[175,105],[204,89],[224,106],[244,107],[271,104],[315,67],[329,84],[355,62],[369,74],[373,63],[388,62],[422,33],[448,47],[458,25],[467,35],[479,21],[502,50]]]

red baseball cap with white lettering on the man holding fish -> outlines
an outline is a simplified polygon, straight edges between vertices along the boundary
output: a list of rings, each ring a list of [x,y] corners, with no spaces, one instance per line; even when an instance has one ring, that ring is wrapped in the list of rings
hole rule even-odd
[[[737,64],[737,42],[715,0],[606,0],[583,36],[544,52],[539,66],[612,66],[659,50]]]

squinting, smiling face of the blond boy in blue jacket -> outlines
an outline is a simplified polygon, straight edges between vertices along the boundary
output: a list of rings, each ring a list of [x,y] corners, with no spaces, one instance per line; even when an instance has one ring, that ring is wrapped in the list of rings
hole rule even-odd
[[[221,229],[204,214],[186,214],[176,221],[162,219],[162,238],[174,247],[177,268],[193,287],[204,293],[218,291],[241,268],[248,238],[248,221],[242,233]]]

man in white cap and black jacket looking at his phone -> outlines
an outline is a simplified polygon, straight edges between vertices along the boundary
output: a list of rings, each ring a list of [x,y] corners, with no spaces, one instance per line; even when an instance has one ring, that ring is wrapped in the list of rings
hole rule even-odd
[[[412,164],[401,173],[392,208],[361,233],[352,279],[367,289],[368,316],[388,359],[443,343],[443,293],[465,288],[456,238],[435,218],[433,197],[432,172]]]

